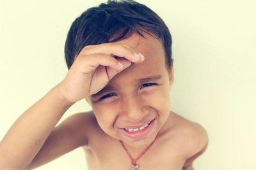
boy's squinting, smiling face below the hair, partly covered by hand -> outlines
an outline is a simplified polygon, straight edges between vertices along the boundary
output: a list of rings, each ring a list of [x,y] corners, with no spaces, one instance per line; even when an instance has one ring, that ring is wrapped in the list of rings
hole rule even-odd
[[[152,143],[165,124],[173,83],[173,69],[166,69],[161,41],[144,36],[132,34],[119,43],[136,48],[145,60],[118,73],[88,99],[101,129],[134,148]]]

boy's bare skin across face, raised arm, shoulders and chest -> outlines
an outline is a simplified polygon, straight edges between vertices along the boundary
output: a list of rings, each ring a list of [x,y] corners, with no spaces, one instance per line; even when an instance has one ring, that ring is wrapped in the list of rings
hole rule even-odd
[[[86,46],[65,80],[23,113],[4,136],[0,169],[33,169],[79,147],[89,170],[129,169],[119,140],[137,157],[157,136],[138,160],[140,169],[191,170],[207,146],[207,134],[170,111],[172,84],[173,69],[166,69],[163,46],[152,36],[133,34],[118,43]],[[55,127],[65,111],[84,98],[93,112],[72,115]],[[122,132],[152,119],[147,136],[131,139]]]

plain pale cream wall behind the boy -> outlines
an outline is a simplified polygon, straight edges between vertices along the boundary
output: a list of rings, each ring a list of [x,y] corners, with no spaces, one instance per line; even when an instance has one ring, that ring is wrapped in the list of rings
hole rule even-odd
[[[63,80],[69,27],[84,10],[102,2],[0,1],[0,139],[20,114]],[[254,1],[138,2],[156,11],[172,33],[172,110],[209,133],[209,146],[195,161],[195,169],[253,169]],[[87,110],[90,107],[81,101],[63,118]],[[38,168],[43,169],[86,169],[84,154],[77,149]]]

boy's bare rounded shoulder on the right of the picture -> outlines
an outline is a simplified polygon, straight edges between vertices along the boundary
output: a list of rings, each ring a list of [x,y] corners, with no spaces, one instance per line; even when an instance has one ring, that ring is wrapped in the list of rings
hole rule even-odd
[[[186,156],[202,154],[208,144],[208,136],[204,127],[176,113],[173,113],[172,120],[175,134],[179,134],[180,143],[186,149]]]

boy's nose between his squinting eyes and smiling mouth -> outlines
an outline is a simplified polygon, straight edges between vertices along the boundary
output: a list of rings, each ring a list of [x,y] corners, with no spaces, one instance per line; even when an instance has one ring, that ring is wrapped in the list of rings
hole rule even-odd
[[[138,95],[122,97],[120,117],[122,120],[132,123],[139,123],[148,114],[145,101]]]

